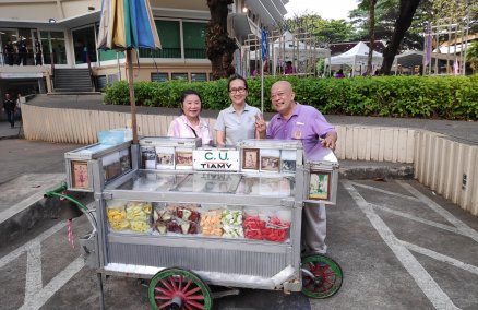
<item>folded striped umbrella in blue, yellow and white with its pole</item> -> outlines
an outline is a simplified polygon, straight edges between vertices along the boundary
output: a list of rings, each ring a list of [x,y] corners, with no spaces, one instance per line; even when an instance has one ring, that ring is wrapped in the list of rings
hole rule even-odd
[[[126,50],[133,143],[138,144],[131,49],[162,48],[150,0],[101,0],[97,47],[98,49]]]

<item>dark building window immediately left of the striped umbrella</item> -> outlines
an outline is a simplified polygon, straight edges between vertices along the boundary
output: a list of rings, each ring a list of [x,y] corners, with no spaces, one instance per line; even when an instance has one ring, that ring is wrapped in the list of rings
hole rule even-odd
[[[76,64],[96,62],[95,28],[93,26],[75,29],[73,35],[74,62]]]

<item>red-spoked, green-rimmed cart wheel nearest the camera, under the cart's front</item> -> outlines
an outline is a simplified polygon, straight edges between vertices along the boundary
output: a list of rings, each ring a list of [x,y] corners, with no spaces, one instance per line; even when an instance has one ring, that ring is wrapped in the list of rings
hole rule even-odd
[[[153,276],[148,287],[153,309],[210,310],[213,307],[211,289],[193,272],[165,269]]]

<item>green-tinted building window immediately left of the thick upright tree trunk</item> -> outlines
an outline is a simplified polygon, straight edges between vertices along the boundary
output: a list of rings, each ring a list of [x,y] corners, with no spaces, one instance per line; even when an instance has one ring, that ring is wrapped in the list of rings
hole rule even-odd
[[[184,40],[184,58],[206,58],[206,27],[205,23],[182,23],[182,37]]]

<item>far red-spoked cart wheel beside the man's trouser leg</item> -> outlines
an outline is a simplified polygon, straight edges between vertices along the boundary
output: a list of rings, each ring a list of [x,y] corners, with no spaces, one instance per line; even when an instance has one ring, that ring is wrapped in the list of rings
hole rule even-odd
[[[342,286],[342,269],[324,255],[302,258],[302,293],[307,297],[322,299],[333,296]]]

